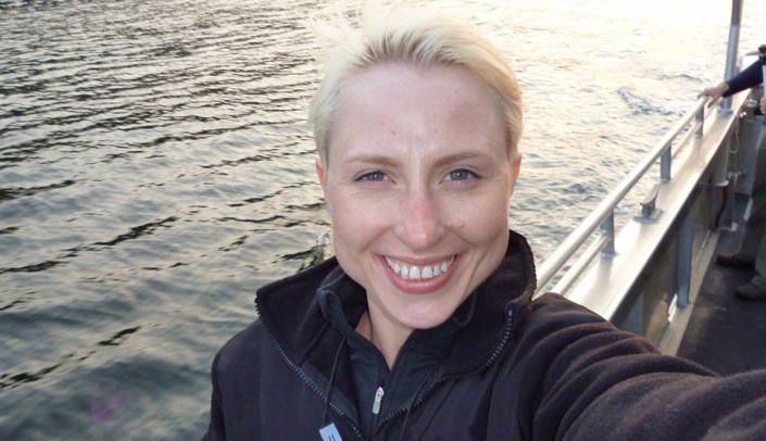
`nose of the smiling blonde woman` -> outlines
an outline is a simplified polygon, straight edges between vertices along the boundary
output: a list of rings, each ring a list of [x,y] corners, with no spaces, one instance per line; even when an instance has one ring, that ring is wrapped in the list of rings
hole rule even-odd
[[[399,207],[395,234],[412,251],[432,247],[444,231],[438,201],[427,190],[411,190]],[[391,207],[397,210],[397,207]]]

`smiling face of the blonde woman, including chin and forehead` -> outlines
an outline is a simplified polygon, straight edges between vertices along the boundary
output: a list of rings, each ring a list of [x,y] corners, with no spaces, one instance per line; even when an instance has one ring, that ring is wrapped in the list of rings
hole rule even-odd
[[[340,265],[375,328],[431,328],[500,264],[520,161],[492,92],[467,71],[386,63],[339,94],[317,174]]]

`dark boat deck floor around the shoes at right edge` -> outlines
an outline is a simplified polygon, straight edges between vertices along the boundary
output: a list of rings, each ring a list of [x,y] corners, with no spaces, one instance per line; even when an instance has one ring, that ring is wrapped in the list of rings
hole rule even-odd
[[[748,196],[737,194],[734,204],[738,227],[720,231],[716,255],[737,251],[744,236]],[[734,295],[752,277],[752,269],[724,267],[713,259],[677,355],[720,375],[766,368],[766,301]]]

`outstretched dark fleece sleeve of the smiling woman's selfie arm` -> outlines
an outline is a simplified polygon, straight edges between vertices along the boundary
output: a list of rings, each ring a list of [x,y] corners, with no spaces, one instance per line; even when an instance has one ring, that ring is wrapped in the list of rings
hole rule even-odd
[[[718,377],[562,302],[532,349],[529,439],[766,440],[766,371]]]

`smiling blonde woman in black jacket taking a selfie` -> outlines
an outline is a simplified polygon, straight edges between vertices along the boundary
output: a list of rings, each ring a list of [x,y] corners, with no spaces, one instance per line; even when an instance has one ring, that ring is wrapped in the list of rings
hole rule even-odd
[[[339,14],[342,16],[342,14]],[[520,90],[462,22],[369,5],[312,103],[336,256],[261,289],[213,363],[208,439],[732,439],[763,374],[720,379],[561,297],[508,230]]]

